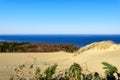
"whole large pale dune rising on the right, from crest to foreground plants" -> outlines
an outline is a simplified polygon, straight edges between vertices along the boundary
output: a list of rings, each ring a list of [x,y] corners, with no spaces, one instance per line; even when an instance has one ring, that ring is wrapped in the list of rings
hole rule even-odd
[[[62,65],[79,63],[83,70],[104,74],[102,62],[109,62],[120,70],[120,45],[111,41],[102,41],[89,44],[76,52],[77,56],[65,61]]]

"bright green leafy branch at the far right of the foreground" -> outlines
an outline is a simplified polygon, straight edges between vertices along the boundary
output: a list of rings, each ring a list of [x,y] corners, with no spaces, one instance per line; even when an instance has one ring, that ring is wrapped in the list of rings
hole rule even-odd
[[[105,74],[113,74],[118,72],[117,68],[107,62],[102,62],[102,64],[104,65],[103,69],[105,69]]]

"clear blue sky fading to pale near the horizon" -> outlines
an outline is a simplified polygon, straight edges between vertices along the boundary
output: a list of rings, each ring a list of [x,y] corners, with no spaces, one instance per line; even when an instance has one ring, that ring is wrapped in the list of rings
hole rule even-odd
[[[120,0],[0,0],[0,34],[120,34]]]

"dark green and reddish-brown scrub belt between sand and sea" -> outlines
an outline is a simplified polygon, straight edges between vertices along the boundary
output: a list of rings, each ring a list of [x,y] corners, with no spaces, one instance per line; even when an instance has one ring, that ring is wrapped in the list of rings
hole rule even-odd
[[[0,52],[74,52],[78,49],[79,47],[73,44],[0,42]]]

